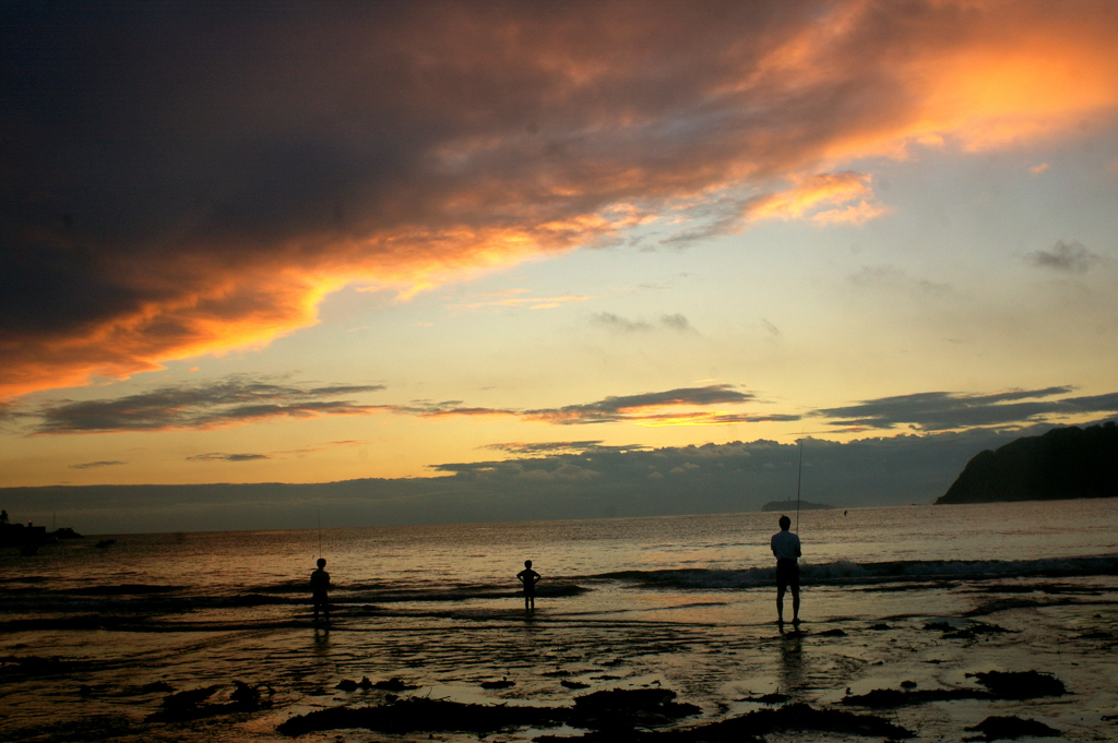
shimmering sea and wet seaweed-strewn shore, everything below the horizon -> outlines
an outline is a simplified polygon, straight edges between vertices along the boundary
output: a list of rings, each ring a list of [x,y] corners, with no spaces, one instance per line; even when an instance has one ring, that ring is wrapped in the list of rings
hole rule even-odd
[[[1118,737],[1112,499],[805,512],[798,629],[775,623],[776,516],[6,553],[0,740],[997,740],[967,731],[992,717]],[[320,553],[329,629],[310,617]],[[543,575],[532,615],[523,559]],[[613,689],[644,696],[572,712]],[[334,726],[358,720],[342,707],[379,727]]]

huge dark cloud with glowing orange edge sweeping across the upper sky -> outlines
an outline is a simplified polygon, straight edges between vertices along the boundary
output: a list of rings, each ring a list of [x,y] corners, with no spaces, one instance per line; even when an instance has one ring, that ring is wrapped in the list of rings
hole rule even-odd
[[[435,284],[684,202],[788,201],[851,178],[789,174],[921,134],[1050,131],[1114,105],[1118,59],[1109,3],[1040,0],[2,12],[8,397],[269,341],[347,283]],[[1035,107],[970,93],[1007,50],[1054,76]]]

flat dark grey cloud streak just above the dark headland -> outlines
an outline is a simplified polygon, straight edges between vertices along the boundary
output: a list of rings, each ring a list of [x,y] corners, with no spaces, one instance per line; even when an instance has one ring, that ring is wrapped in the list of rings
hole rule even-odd
[[[1118,393],[1052,399],[1072,391],[1071,387],[1013,390],[993,394],[920,392],[864,400],[842,408],[813,412],[849,428],[896,428],[911,426],[923,431],[942,431],[988,426],[1023,426],[1042,422],[1050,416],[1118,411]]]

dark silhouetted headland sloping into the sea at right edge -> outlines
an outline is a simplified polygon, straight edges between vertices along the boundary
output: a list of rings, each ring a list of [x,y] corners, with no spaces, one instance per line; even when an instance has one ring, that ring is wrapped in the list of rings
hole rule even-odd
[[[1054,428],[975,455],[942,503],[1118,497],[1118,426]]]

